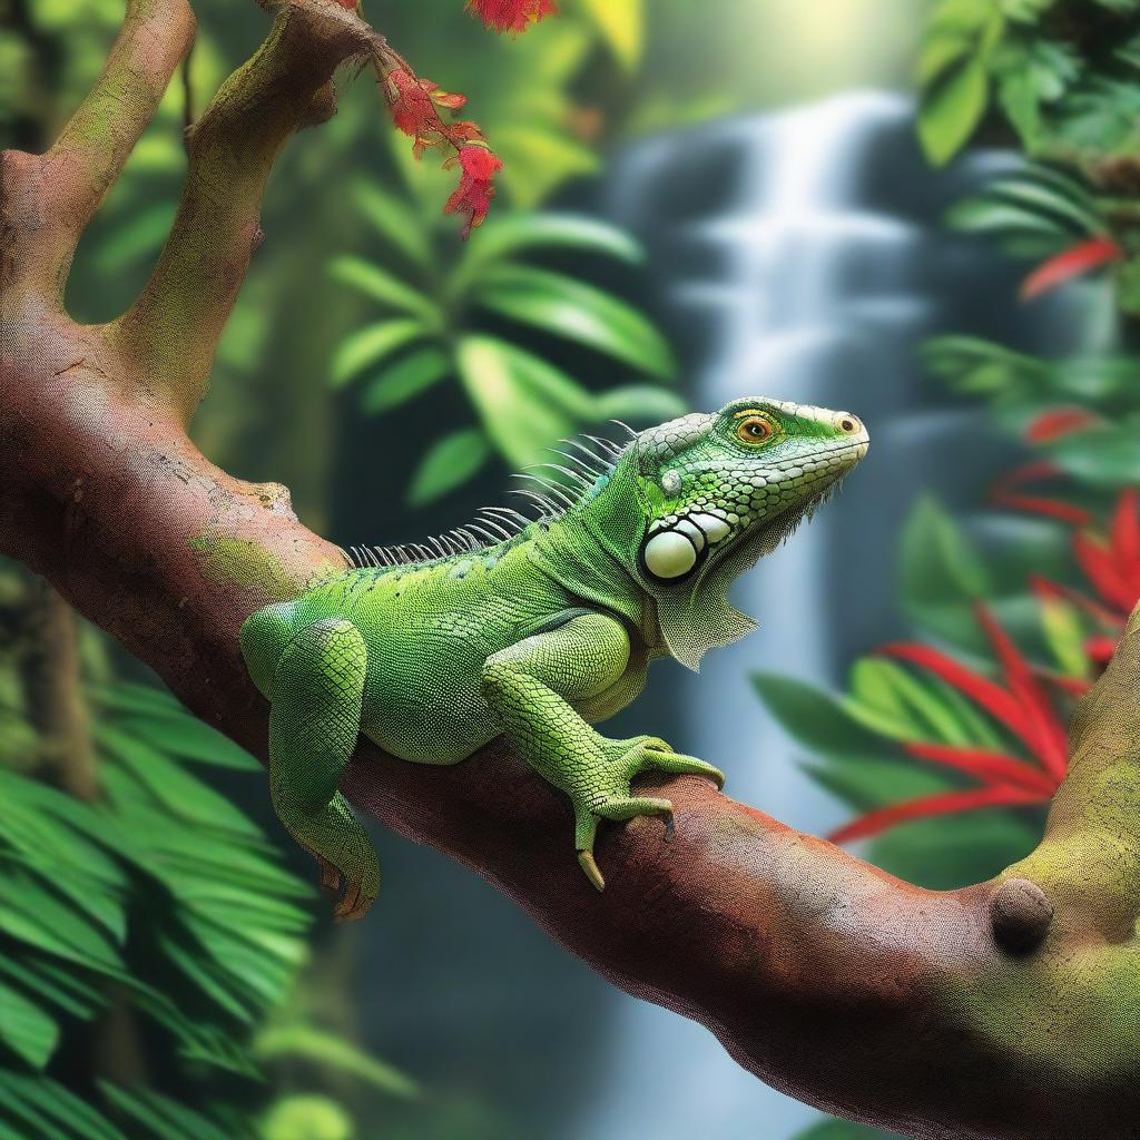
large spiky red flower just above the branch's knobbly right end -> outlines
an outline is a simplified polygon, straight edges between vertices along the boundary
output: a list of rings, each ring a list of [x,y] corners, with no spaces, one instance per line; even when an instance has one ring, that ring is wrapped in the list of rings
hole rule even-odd
[[[868,812],[834,831],[829,837],[833,842],[865,839],[906,820],[978,807],[1041,804],[1052,798],[1068,766],[1065,725],[1028,661],[992,614],[979,606],[978,620],[1001,662],[1003,685],[929,645],[899,642],[885,645],[880,652],[918,665],[956,689],[1012,733],[1028,758],[991,748],[906,742],[903,749],[907,755],[964,772],[980,787],[922,796]]]

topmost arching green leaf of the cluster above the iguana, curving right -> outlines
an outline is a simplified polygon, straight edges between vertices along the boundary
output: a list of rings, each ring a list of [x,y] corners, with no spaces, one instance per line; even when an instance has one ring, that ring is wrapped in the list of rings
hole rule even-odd
[[[515,212],[488,221],[469,242],[450,288],[459,291],[488,264],[532,250],[569,249],[618,258],[629,264],[644,261],[644,251],[625,230],[580,214]]]

